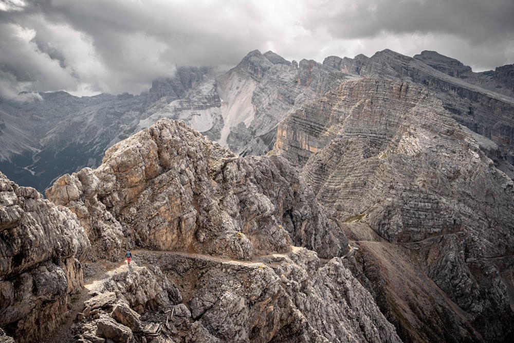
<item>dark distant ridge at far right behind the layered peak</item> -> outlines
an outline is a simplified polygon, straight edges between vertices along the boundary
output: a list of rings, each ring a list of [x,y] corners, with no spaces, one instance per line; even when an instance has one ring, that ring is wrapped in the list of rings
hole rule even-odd
[[[443,102],[457,122],[497,143],[498,153],[489,157],[503,171],[514,176],[514,119],[511,116],[514,113],[514,99],[510,94],[505,96],[486,89],[490,87],[476,86],[475,84],[480,84],[479,81],[464,79],[467,75],[461,70],[464,66],[457,62],[437,53],[425,52],[410,58],[386,49],[375,53],[371,58],[328,57],[323,64],[361,77],[402,80],[427,87]],[[508,66],[505,68],[508,69]],[[442,69],[444,73],[436,69]],[[460,78],[445,73],[459,75]],[[500,166],[504,164],[503,161],[508,164]]]

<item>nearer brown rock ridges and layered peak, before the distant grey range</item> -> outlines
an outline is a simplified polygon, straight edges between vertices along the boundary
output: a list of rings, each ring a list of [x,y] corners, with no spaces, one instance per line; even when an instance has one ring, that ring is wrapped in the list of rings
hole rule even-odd
[[[237,156],[162,119],[113,145],[97,169],[60,177],[51,202],[5,183],[8,232],[41,225],[9,214],[34,198],[65,213],[43,220],[50,233],[39,241],[56,230],[82,235],[73,241],[81,248],[26,269],[9,261],[40,245],[3,258],[3,313],[34,304],[32,319],[0,323],[21,341],[21,330],[30,339],[54,332],[69,304],[63,285],[77,292],[80,270],[95,275],[91,265],[119,262],[126,248],[138,249],[137,264],[95,283],[75,340],[142,341],[159,322],[162,339],[198,342],[486,342],[513,332],[514,183],[424,87],[344,82],[282,121],[269,156]],[[20,241],[14,233],[3,246]],[[71,257],[75,268],[62,267]],[[39,286],[9,292],[45,270],[63,276],[51,298]]]

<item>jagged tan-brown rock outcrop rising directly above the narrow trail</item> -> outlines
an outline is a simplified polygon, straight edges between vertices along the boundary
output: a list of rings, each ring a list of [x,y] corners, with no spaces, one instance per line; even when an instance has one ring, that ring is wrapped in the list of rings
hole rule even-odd
[[[347,251],[344,234],[311,205],[314,193],[284,159],[238,157],[168,119],[113,146],[98,169],[62,176],[46,194],[78,213],[103,258],[117,260],[110,254],[122,246],[237,259],[285,252],[291,242],[326,258]]]

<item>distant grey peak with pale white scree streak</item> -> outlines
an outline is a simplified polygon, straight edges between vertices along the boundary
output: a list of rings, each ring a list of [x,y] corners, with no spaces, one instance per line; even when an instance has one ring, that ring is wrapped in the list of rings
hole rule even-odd
[[[145,116],[138,128],[162,117],[185,120],[236,154],[262,155],[272,148],[274,130],[287,113],[348,77],[315,61],[289,62],[254,50],[227,73],[204,78],[183,99],[170,98],[174,101]]]

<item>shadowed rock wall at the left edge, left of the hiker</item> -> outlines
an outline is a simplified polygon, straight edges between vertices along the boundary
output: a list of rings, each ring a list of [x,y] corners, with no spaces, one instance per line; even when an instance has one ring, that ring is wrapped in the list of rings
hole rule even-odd
[[[19,342],[56,328],[83,287],[88,248],[77,216],[0,173],[0,327]]]

